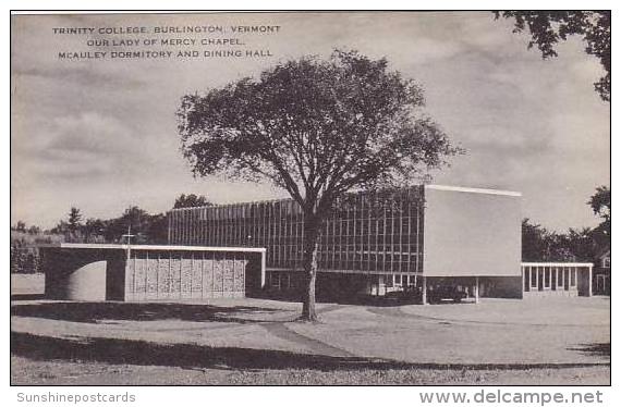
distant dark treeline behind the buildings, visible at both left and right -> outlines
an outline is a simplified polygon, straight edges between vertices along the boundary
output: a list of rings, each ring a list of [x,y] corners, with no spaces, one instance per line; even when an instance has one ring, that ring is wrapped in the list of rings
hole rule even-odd
[[[181,195],[173,208],[210,206],[204,196]],[[589,261],[610,247],[610,189],[598,187],[587,202],[601,219],[597,227],[550,232],[529,219],[522,221],[522,261]],[[123,243],[131,231],[133,244],[167,244],[168,221],[165,213],[149,214],[138,207],[127,208],[113,219],[89,218],[83,221],[77,208],[49,231],[17,222],[11,227],[11,272],[39,272],[37,244],[44,243]]]

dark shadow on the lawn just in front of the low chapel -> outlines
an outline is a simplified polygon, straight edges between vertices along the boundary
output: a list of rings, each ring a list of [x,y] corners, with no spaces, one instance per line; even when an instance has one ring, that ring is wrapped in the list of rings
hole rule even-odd
[[[174,303],[42,303],[11,306],[11,316],[97,323],[100,320],[260,322],[282,310],[261,307],[217,307]]]

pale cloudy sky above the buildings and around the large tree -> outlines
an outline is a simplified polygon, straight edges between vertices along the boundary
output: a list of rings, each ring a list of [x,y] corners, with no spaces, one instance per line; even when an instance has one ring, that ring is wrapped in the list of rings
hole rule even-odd
[[[155,32],[185,26],[222,32]],[[239,34],[233,26],[279,28]],[[127,27],[147,33],[119,33]],[[386,57],[425,89],[426,112],[466,150],[431,173],[435,184],[521,192],[523,217],[557,231],[596,225],[586,201],[610,184],[610,106],[593,90],[602,74],[597,59],[576,38],[543,60],[527,50],[526,34],[488,12],[13,15],[11,35],[12,224],[52,227],[72,206],[85,219],[119,217],[134,205],[163,212],[180,194],[217,203],[285,197],[268,183],[194,178],[180,152],[175,111],[183,95],[302,55],[326,58],[334,48]],[[151,39],[156,46],[144,45]],[[204,55],[236,49],[264,57]],[[180,50],[199,57],[110,58]],[[92,58],[59,55],[81,52]]]

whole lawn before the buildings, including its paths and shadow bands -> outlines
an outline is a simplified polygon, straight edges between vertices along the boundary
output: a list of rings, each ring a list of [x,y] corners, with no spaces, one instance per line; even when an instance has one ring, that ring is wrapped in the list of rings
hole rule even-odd
[[[26,284],[27,285],[27,284]],[[24,293],[22,293],[24,294]],[[11,304],[12,384],[610,383],[607,297],[438,306]]]

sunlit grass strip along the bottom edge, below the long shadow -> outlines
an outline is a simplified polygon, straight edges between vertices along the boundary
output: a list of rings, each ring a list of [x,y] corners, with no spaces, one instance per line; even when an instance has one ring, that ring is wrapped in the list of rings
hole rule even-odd
[[[565,369],[247,369],[110,365],[11,357],[12,384],[42,385],[468,385],[604,384],[610,367]]]

